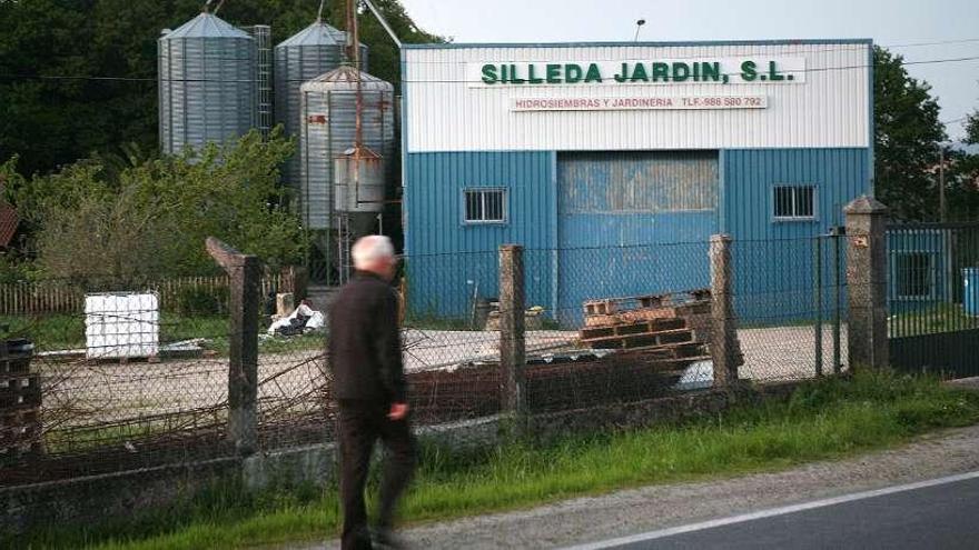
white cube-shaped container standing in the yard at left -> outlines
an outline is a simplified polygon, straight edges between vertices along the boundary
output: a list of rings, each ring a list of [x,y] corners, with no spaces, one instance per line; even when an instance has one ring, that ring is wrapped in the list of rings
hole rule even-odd
[[[160,303],[155,293],[85,297],[85,346],[89,359],[154,357],[159,353]]]

